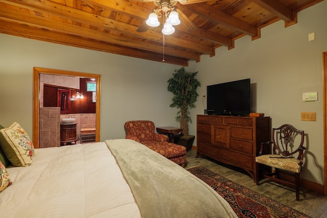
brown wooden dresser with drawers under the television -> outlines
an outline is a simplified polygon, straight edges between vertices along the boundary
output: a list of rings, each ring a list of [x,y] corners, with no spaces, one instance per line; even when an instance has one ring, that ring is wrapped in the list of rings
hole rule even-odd
[[[243,168],[256,182],[255,156],[270,140],[270,117],[197,115],[197,154]]]

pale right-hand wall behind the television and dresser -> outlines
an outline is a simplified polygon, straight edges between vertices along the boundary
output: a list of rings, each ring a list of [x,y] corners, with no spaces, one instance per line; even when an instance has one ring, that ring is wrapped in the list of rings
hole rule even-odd
[[[322,52],[327,51],[327,1],[298,13],[298,23],[288,28],[278,21],[261,30],[261,38],[251,41],[242,37],[235,41],[235,49],[216,49],[216,56],[201,56],[192,62],[189,71],[199,71],[199,95],[206,94],[206,86],[250,78],[256,84],[256,112],[272,118],[272,127],[292,124],[304,130],[306,162],[302,176],[323,184],[323,92]],[[314,41],[308,34],[315,32]],[[303,102],[303,92],[318,92],[318,101]],[[192,111],[203,114],[201,98]],[[206,103],[206,101],[205,101]],[[301,112],[316,112],[316,122],[301,121]],[[192,125],[190,134],[196,133]]]

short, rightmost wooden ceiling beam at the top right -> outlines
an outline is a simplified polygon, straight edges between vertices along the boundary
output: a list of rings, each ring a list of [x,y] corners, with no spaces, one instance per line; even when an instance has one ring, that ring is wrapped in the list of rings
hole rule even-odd
[[[286,7],[278,0],[252,0],[255,4],[266,9],[270,13],[276,15],[287,23],[296,23],[296,12],[293,12],[290,8]]]

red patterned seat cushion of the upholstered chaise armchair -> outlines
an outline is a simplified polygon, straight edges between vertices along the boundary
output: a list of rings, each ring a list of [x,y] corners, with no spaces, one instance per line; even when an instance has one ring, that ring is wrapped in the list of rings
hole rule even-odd
[[[142,141],[141,143],[168,159],[180,157],[186,154],[186,148],[184,146],[179,146],[178,144],[169,143],[167,141]]]

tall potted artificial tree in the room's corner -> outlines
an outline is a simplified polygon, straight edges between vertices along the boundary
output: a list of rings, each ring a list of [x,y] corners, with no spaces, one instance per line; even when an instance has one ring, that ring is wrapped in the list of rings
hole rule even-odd
[[[175,143],[181,144],[189,151],[195,139],[189,135],[189,122],[192,123],[190,109],[195,108],[199,96],[197,88],[201,86],[196,79],[197,72],[188,72],[185,67],[175,69],[173,77],[168,80],[168,91],[174,94],[170,107],[178,108],[176,121],[180,123],[181,134],[175,136]]]

